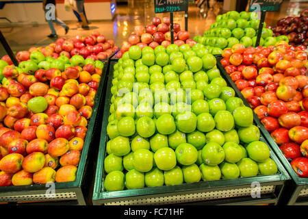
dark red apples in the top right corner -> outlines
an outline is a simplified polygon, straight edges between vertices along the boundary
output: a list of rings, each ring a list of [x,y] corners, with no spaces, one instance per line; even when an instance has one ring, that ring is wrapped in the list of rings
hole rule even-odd
[[[300,16],[287,16],[277,21],[277,26],[270,27],[274,36],[285,35],[292,46],[300,44],[308,46],[308,8],[300,12]]]

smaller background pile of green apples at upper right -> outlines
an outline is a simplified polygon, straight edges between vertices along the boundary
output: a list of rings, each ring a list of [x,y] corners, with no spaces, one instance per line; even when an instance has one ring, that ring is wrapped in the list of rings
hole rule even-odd
[[[216,16],[216,23],[211,24],[203,36],[196,36],[194,40],[207,46],[214,55],[238,43],[244,44],[246,48],[255,47],[259,23],[256,12],[227,12]],[[288,39],[287,36],[274,37],[272,29],[267,28],[264,22],[259,45],[273,46],[280,40]]]

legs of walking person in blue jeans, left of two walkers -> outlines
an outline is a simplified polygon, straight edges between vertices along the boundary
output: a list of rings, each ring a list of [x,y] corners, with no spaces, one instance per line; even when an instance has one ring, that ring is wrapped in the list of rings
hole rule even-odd
[[[51,29],[51,34],[48,37],[57,38],[57,32],[55,31],[55,27],[53,27],[53,21],[60,24],[64,28],[65,34],[67,34],[69,27],[55,15],[55,0],[43,0],[42,2],[45,18],[48,22],[49,28]]]

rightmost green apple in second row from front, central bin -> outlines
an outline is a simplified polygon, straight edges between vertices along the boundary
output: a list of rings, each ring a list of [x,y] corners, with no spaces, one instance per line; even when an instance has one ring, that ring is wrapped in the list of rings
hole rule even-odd
[[[253,159],[255,162],[264,162],[270,158],[270,149],[268,145],[261,141],[251,142],[246,146],[248,157]]]

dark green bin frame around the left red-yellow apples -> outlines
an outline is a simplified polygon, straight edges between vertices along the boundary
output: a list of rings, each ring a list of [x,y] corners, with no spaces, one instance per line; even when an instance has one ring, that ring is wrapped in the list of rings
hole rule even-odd
[[[75,181],[64,183],[50,183],[46,185],[17,185],[0,187],[0,203],[16,205],[86,205],[89,187],[94,175],[94,160],[97,158],[95,148],[99,145],[95,141],[99,138],[102,118],[101,105],[103,103],[103,90],[107,73],[107,61],[104,62],[101,81],[95,96],[92,116],[88,122],[88,132],[84,140],[80,162]],[[50,192],[54,191],[51,195]],[[90,192],[92,196],[92,191]],[[90,200],[91,202],[92,200]]]

